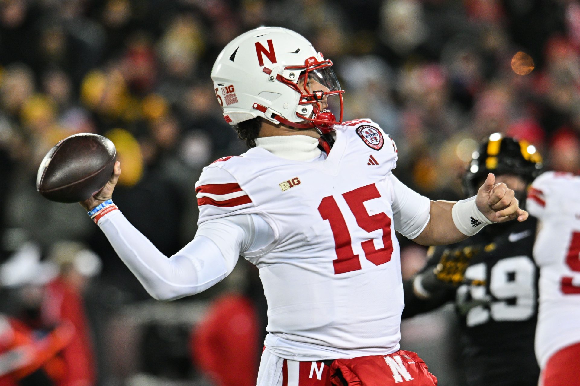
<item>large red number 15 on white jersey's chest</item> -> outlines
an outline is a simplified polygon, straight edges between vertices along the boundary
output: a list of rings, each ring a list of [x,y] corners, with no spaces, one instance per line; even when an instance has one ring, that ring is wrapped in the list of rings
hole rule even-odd
[[[369,262],[375,265],[390,262],[393,254],[393,241],[391,240],[391,219],[385,213],[378,213],[370,216],[364,207],[364,202],[379,198],[379,190],[374,183],[362,188],[351,190],[342,195],[349,205],[350,211],[353,212],[358,226],[367,232],[383,230],[383,248],[376,249],[372,238],[361,242],[362,250]],[[349,229],[346,226],[345,218],[334,197],[328,196],[322,198],[318,205],[318,212],[322,219],[328,220],[334,236],[336,259],[334,264],[334,273],[346,273],[361,269],[361,262],[358,255],[354,254]]]

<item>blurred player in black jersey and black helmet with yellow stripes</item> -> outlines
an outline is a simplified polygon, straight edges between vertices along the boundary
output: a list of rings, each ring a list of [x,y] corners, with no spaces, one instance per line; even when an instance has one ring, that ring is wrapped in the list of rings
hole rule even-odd
[[[523,206],[542,159],[525,141],[490,135],[463,177],[467,196],[490,172]],[[455,302],[469,386],[535,386],[537,273],[532,258],[536,220],[508,222],[464,241],[431,247],[426,266],[404,282],[403,318]]]

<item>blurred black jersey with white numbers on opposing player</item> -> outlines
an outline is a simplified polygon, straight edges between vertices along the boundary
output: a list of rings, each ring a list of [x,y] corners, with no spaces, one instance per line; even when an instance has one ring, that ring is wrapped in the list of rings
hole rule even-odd
[[[490,228],[490,229],[488,229]],[[412,279],[404,282],[403,318],[455,302],[467,384],[536,386],[534,355],[538,270],[532,259],[536,220],[491,225],[462,242],[436,247],[422,270],[432,270],[444,253],[472,254],[465,278],[476,284],[449,287],[419,299]]]

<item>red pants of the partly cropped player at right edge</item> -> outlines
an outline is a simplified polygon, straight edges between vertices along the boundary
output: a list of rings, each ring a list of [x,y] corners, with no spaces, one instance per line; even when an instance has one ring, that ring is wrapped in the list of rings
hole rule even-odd
[[[540,378],[542,386],[580,386],[580,343],[552,355]]]

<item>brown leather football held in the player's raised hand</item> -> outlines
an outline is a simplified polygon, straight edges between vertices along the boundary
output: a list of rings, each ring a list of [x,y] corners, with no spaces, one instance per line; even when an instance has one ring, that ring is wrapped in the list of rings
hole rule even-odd
[[[64,138],[46,154],[37,190],[49,200],[77,203],[99,192],[113,174],[117,149],[110,139],[81,133]]]

